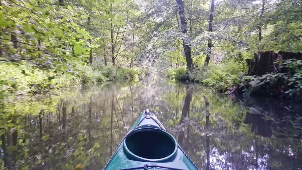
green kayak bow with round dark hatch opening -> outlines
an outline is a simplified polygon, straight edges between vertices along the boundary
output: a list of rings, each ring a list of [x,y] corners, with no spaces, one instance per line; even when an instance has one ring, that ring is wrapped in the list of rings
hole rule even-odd
[[[175,138],[145,110],[122,139],[104,170],[198,170]]]

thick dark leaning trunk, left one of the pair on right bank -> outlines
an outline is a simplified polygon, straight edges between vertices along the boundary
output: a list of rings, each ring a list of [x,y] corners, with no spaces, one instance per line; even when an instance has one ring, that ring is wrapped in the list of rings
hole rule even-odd
[[[185,8],[184,8],[184,1],[183,0],[176,0],[178,5],[178,13],[180,17],[180,22],[182,25],[182,33],[187,34],[187,20],[185,17]],[[190,41],[187,38],[182,38],[182,45],[185,52],[185,58],[187,62],[187,69],[191,69],[193,61],[191,58],[191,46]]]

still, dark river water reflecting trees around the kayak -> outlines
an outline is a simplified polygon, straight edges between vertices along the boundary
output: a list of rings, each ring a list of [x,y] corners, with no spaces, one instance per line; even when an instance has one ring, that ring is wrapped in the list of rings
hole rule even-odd
[[[302,167],[299,103],[238,99],[153,76],[16,99],[3,107],[3,169],[102,169],[146,108],[200,169]]]

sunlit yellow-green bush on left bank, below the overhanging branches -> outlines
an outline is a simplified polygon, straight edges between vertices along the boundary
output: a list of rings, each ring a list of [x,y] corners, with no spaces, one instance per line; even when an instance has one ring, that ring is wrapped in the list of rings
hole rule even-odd
[[[76,83],[73,75],[41,70],[26,61],[16,64],[0,63],[0,93],[40,93]]]

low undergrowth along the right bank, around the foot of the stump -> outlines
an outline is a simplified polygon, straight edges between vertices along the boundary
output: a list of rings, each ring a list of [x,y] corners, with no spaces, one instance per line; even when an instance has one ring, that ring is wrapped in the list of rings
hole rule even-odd
[[[247,75],[247,66],[243,61],[229,60],[208,67],[195,67],[186,72],[185,67],[166,69],[163,74],[173,80],[203,83],[212,89],[232,93],[237,90],[246,95],[269,95],[300,97],[302,91],[302,60],[290,59],[278,61],[283,72],[268,73],[261,76]]]

